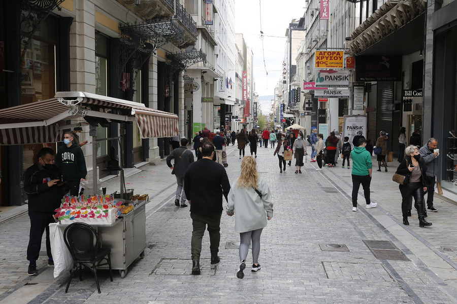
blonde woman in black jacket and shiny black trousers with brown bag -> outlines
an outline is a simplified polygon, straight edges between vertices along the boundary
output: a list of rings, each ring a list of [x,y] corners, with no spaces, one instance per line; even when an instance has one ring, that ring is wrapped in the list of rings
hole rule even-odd
[[[425,213],[425,201],[424,194],[427,191],[429,184],[426,175],[427,165],[419,155],[419,147],[415,145],[409,145],[405,148],[405,158],[397,168],[398,174],[408,174],[409,183],[406,185],[399,185],[400,193],[402,194],[402,214],[403,224],[409,225],[408,222],[408,205],[409,198],[414,197],[414,207],[417,209],[417,215],[419,218],[419,227],[431,226],[432,223],[428,222],[424,218]],[[430,189],[433,191],[433,189]]]

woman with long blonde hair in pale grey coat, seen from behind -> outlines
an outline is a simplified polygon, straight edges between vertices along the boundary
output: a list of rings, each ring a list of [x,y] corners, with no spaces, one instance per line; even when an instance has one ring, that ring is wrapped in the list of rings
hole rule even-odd
[[[226,212],[235,216],[235,232],[240,233],[240,265],[237,278],[243,279],[246,257],[252,241],[252,272],[260,270],[260,235],[273,217],[273,203],[267,182],[258,175],[255,160],[246,157],[241,162],[241,174],[228,193]]]

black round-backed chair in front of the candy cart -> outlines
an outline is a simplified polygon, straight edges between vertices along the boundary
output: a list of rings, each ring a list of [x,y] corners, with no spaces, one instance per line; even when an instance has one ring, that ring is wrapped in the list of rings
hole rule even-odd
[[[68,292],[73,275],[79,269],[79,280],[82,281],[81,268],[84,266],[92,271],[97,283],[97,289],[100,291],[99,279],[97,278],[97,267],[108,265],[110,269],[110,279],[113,282],[111,274],[111,249],[99,248],[100,238],[92,226],[82,222],[70,224],[63,232],[63,239],[73,257],[73,269],[70,274],[65,293]],[[101,263],[106,260],[105,263]]]

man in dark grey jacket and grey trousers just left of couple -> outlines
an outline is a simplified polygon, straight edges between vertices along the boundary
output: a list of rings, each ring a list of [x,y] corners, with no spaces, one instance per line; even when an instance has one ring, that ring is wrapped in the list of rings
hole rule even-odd
[[[187,149],[187,143],[187,138],[181,138],[181,146],[174,149],[172,153],[167,156],[167,166],[172,170],[175,169],[174,173],[178,182],[175,205],[176,207],[179,207],[179,199],[181,199],[181,208],[187,207],[186,194],[184,192],[184,175],[186,174],[189,165],[193,163],[193,153]],[[171,164],[172,159],[175,160],[174,166]]]

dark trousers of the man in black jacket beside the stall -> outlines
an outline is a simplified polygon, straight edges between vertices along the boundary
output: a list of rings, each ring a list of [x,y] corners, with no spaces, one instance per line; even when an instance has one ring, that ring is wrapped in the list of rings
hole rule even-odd
[[[27,246],[27,260],[36,262],[40,255],[41,239],[46,231],[46,254],[52,259],[51,241],[49,238],[49,223],[54,222],[55,212],[28,211],[30,218],[30,234]]]

